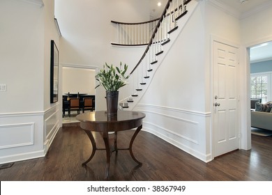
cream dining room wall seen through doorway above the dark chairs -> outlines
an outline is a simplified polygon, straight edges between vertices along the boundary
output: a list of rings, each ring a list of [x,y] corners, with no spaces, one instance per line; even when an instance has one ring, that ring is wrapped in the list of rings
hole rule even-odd
[[[95,94],[96,72],[91,69],[63,67],[63,93]]]

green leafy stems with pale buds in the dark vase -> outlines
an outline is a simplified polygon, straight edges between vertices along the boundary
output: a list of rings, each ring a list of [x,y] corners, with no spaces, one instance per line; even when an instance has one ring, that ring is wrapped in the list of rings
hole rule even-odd
[[[96,75],[96,80],[99,85],[102,85],[106,91],[118,91],[119,88],[125,86],[126,80],[130,75],[126,76],[126,71],[128,70],[128,65],[124,65],[122,69],[122,63],[119,67],[114,65],[103,65],[103,69]],[[98,87],[96,86],[96,87]]]

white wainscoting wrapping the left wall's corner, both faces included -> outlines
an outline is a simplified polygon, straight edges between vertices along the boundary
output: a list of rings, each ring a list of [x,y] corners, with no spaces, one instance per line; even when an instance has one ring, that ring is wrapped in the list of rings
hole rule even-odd
[[[44,157],[60,127],[59,104],[47,111],[0,114],[0,164]]]

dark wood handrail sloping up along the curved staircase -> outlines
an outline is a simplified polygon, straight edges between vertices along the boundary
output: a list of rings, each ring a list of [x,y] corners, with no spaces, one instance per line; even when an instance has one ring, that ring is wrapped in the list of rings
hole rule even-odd
[[[188,4],[190,1],[191,1],[191,0],[184,1],[183,4],[186,5],[186,4]],[[171,2],[172,2],[172,0],[168,0],[167,4],[166,4],[166,6],[165,6],[165,9],[163,10],[162,15],[160,16],[160,20],[158,21],[158,24],[156,25],[156,27],[155,27],[155,29],[154,29],[154,31],[153,31],[153,33],[152,33],[152,36],[151,36],[151,38],[150,38],[150,40],[149,40],[149,45],[147,45],[146,50],[144,51],[144,54],[142,55],[141,59],[139,59],[139,62],[137,63],[137,65],[135,65],[135,68],[133,68],[133,70],[130,72],[130,75],[133,74],[133,72],[136,70],[136,68],[139,66],[139,64],[140,64],[140,63],[142,62],[142,60],[144,59],[144,56],[146,56],[147,52],[149,51],[149,47],[150,47],[151,44],[152,44],[152,40],[153,40],[153,38],[155,38],[156,33],[157,33],[157,31],[158,31],[158,28],[160,27],[160,22],[163,21],[163,17],[164,17],[165,14],[167,13],[167,9],[169,8],[169,5],[170,5]]]

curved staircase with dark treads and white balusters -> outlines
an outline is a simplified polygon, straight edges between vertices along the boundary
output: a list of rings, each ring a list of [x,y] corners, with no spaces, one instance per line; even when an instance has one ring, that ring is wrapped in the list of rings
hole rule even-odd
[[[135,24],[142,25],[140,27],[138,26],[136,33],[133,33],[137,40],[131,41],[130,38],[127,38],[130,33],[122,32],[123,34],[126,34],[126,38],[119,38],[119,40],[126,40],[126,44],[122,43],[120,45],[130,45],[128,43],[132,42],[131,45],[147,46],[141,59],[139,59],[135,68],[130,72],[128,85],[121,90],[121,100],[119,99],[120,109],[133,110],[137,102],[139,102],[142,95],[144,95],[149,87],[153,75],[160,66],[160,63],[162,63],[167,52],[197,7],[197,3],[198,2],[195,0],[169,0],[161,17],[152,21],[156,21],[156,26],[150,25],[149,27],[146,27],[144,22]],[[124,25],[124,23],[114,23],[117,25]],[[149,24],[147,24],[147,26],[148,25]],[[117,29],[128,29],[128,27],[119,26]],[[143,29],[153,29],[149,42],[145,41],[146,33],[141,35]],[[118,44],[114,43],[113,45]]]

